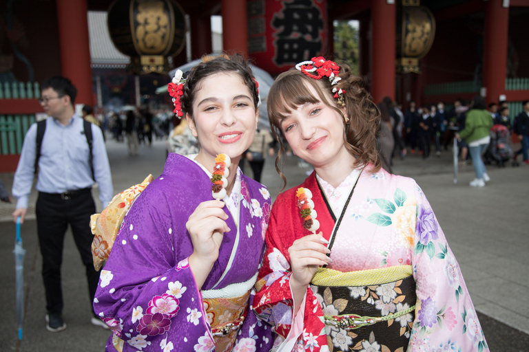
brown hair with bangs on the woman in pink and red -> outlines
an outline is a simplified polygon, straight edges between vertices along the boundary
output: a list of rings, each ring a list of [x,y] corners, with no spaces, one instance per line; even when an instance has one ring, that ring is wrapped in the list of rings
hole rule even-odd
[[[340,66],[338,76],[342,79],[335,86],[331,86],[327,79],[315,80],[293,68],[280,74],[270,88],[267,98],[268,118],[272,135],[280,145],[276,157],[276,170],[282,178],[284,186],[287,184],[287,178],[284,177],[279,166],[280,159],[284,154],[282,144],[284,133],[281,129],[281,121],[291,111],[307,103],[323,102],[340,113],[345,124],[345,148],[355,157],[353,167],[357,168],[370,163],[373,164],[373,172],[377,172],[382,167],[376,146],[376,135],[380,128],[380,111],[374,104],[371,94],[364,88],[364,79],[355,76],[349,65],[345,63],[338,65]],[[318,97],[311,94],[309,87],[313,87]],[[345,111],[349,120],[331,94],[333,87],[344,91]]]

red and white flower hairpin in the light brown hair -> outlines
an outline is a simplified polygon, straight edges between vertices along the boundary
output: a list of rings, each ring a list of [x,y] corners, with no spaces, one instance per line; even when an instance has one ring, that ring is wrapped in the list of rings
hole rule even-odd
[[[338,82],[342,80],[342,78],[338,77],[340,66],[334,61],[325,60],[322,56],[313,57],[311,61],[298,63],[298,65],[295,65],[295,68],[315,80],[328,77],[331,86],[337,85]],[[333,87],[333,93],[333,97],[338,99],[338,105],[340,105],[340,107],[345,107],[344,90]]]

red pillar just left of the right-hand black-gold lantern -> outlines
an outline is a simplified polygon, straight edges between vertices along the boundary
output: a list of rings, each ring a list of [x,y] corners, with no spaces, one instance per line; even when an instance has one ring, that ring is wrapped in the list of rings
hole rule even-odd
[[[395,4],[373,0],[371,94],[375,102],[381,102],[385,96],[395,100],[395,25]]]

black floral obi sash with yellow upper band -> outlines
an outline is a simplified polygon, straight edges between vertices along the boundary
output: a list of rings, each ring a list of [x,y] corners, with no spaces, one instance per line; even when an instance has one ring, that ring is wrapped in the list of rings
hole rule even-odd
[[[406,351],[415,319],[411,265],[358,272],[319,268],[311,289],[324,314],[330,351],[362,349],[377,342],[382,351]]]

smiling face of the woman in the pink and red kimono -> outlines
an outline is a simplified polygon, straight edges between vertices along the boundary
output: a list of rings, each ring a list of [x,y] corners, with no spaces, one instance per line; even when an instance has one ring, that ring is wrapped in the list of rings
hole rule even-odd
[[[318,97],[312,86],[307,85],[307,89]],[[281,130],[295,155],[315,168],[351,164],[352,156],[345,148],[344,120],[338,111],[318,100],[282,115]]]

